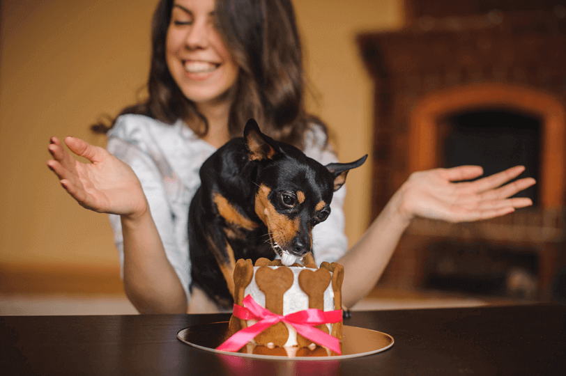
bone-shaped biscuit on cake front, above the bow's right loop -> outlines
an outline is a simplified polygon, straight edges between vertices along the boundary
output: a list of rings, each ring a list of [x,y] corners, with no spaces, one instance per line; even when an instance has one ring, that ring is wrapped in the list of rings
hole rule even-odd
[[[299,287],[309,297],[309,308],[316,308],[324,311],[324,291],[330,284],[330,272],[327,269],[316,269],[313,272],[310,269],[301,270],[298,276]],[[316,328],[328,334],[326,324],[317,325]],[[297,343],[300,347],[309,346],[312,340],[309,340],[300,334],[297,334]]]

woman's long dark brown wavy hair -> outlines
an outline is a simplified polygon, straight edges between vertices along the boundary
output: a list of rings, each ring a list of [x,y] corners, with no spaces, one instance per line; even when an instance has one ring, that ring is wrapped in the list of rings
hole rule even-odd
[[[181,118],[204,136],[206,118],[183,95],[165,61],[173,1],[161,0],[153,15],[148,98],[119,115],[137,113],[169,124]],[[240,67],[229,114],[231,136],[241,136],[249,118],[255,118],[274,139],[298,148],[304,148],[310,123],[319,124],[328,134],[326,125],[305,111],[303,56],[290,0],[216,0],[215,22]],[[106,133],[115,120],[91,129]]]

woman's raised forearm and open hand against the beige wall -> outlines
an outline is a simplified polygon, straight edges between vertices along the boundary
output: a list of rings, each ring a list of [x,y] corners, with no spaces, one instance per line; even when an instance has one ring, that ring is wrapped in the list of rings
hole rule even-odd
[[[91,164],[75,160],[52,138],[49,169],[89,210],[118,214],[124,239],[124,290],[140,313],[186,313],[187,297],[167,260],[142,186],[134,171],[103,148],[67,137],[66,145]]]

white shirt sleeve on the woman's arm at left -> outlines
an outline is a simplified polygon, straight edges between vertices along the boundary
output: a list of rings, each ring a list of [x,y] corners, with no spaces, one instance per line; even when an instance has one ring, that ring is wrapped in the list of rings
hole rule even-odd
[[[132,124],[131,121],[118,118],[116,125],[109,133],[107,150],[128,164],[136,173],[148,200],[151,217],[158,228],[167,260],[174,268],[185,289],[185,294],[189,298],[190,265],[188,248],[183,249],[176,242],[182,234],[176,233],[178,231],[176,229],[178,226],[175,226],[174,223],[176,216],[167,196],[167,190],[170,190],[170,187],[166,187],[168,182],[164,181],[163,173],[160,170],[162,161],[155,160],[154,147],[149,145],[151,134],[147,134],[146,131],[138,124]],[[110,214],[109,219],[114,233],[114,244],[118,249],[123,277],[124,246],[120,216]]]

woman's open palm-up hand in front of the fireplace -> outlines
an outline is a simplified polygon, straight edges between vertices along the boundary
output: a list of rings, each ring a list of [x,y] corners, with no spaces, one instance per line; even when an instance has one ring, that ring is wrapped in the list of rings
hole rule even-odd
[[[523,178],[506,184],[525,170],[515,166],[500,173],[481,176],[480,166],[459,166],[413,173],[395,196],[399,199],[401,216],[441,219],[449,222],[478,221],[514,212],[517,207],[533,205],[530,198],[509,198],[535,184],[533,178]]]

